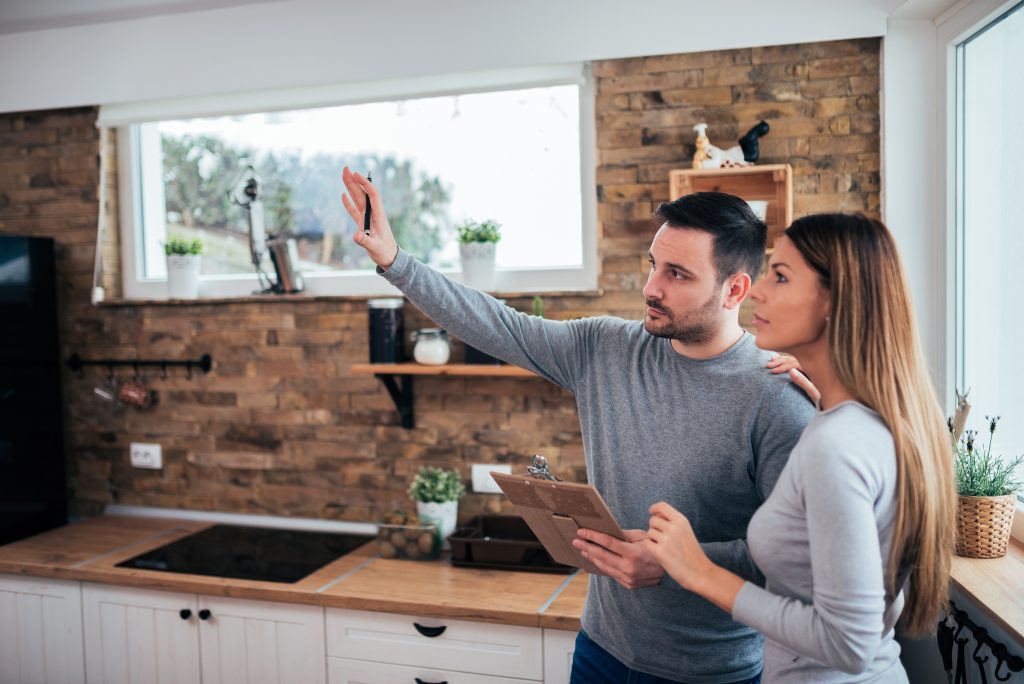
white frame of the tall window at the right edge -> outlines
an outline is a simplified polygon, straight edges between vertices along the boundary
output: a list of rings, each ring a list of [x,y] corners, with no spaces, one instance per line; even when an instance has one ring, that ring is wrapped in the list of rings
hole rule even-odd
[[[939,66],[939,108],[938,147],[944,153],[939,187],[944,190],[941,216],[944,217],[946,241],[946,368],[947,387],[955,387],[961,373],[963,307],[961,306],[959,284],[962,272],[962,217],[963,207],[959,198],[959,149],[961,149],[961,118],[958,92],[958,46],[983,28],[997,19],[1020,0],[980,0],[970,3],[957,3],[949,10],[935,18],[936,26],[936,63]],[[1018,493],[1017,512],[1014,515],[1011,535],[1018,542],[1024,543],[1024,493]]]

